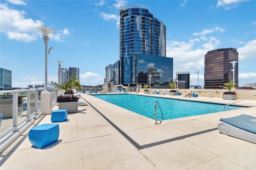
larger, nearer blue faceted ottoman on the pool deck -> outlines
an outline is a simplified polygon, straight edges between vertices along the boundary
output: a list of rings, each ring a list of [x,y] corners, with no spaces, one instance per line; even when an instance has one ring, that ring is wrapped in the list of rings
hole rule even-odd
[[[32,128],[28,133],[28,139],[32,146],[42,149],[57,142],[59,134],[59,124],[43,124]]]

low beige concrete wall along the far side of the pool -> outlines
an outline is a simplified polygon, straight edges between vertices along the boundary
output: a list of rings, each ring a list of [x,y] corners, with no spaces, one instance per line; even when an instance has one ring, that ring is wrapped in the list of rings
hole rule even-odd
[[[149,92],[158,90],[160,93],[164,93],[164,91],[170,91],[171,89],[148,89]],[[144,89],[140,89],[140,93],[143,93]],[[208,93],[212,93],[212,97],[222,98],[222,94],[226,92],[226,89],[177,89],[178,93],[181,95],[186,95],[190,93],[190,91],[194,91],[195,94],[198,94],[198,97],[208,97]],[[233,91],[233,90],[232,90]],[[256,95],[255,90],[234,90],[236,92],[236,99],[245,99],[246,97],[250,97],[252,95]],[[256,96],[250,97],[246,100],[256,100]]]

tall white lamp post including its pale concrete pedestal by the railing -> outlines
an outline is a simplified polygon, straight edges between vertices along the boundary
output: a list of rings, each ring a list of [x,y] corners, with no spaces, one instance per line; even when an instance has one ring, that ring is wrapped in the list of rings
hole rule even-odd
[[[50,47],[48,50],[48,41],[50,39],[50,34],[54,33],[54,30],[46,27],[37,28],[43,34],[43,40],[45,44],[45,82],[44,82],[44,91],[41,93],[41,113],[42,115],[50,115],[51,110],[51,93],[47,90],[47,55],[50,51],[53,50],[53,47]]]

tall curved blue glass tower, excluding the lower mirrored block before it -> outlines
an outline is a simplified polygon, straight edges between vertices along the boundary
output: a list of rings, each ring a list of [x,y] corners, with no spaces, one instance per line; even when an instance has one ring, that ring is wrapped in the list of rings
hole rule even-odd
[[[157,60],[156,57],[166,57],[166,26],[146,8],[121,6],[120,84],[137,84],[145,81],[144,78],[140,80],[138,73],[135,73],[135,70],[138,70],[134,63],[136,53],[151,56],[152,59],[150,60]],[[169,65],[169,67],[172,69],[172,65]]]

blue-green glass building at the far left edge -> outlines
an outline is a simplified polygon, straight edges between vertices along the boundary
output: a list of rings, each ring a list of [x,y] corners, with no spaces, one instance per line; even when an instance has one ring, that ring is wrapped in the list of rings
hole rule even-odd
[[[12,89],[12,71],[0,68],[0,90]]]

